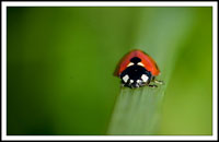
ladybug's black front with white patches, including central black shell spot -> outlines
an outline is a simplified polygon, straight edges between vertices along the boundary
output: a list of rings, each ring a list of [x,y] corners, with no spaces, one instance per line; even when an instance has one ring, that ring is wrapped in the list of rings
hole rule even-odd
[[[141,59],[134,57],[120,73],[122,83],[128,87],[140,87],[150,83],[152,75],[141,63]]]

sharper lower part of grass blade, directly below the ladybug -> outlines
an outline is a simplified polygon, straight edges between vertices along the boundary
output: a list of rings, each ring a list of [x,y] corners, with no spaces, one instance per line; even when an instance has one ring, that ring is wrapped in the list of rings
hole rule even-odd
[[[152,134],[159,118],[158,107],[163,93],[162,87],[131,91],[122,88],[108,133]]]

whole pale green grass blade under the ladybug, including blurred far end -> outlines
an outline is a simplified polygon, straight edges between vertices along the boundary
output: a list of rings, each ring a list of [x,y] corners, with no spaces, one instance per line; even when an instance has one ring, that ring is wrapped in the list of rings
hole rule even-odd
[[[148,16],[148,14],[151,15]],[[107,134],[155,134],[159,129],[164,91],[177,57],[177,50],[181,48],[178,43],[183,43],[184,37],[187,37],[193,15],[194,11],[189,9],[153,8],[142,10],[136,45],[137,47],[142,45],[143,47],[140,47],[142,50],[160,55],[154,58],[162,71],[160,79],[163,79],[165,83],[157,88],[122,87]],[[153,48],[146,49],[147,45],[151,45]]]

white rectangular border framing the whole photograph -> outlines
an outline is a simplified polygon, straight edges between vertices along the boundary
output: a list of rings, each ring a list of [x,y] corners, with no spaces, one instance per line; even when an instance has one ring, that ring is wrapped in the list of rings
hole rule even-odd
[[[212,135],[7,135],[7,7],[212,7]],[[217,2],[2,2],[2,140],[218,140],[218,7]]]

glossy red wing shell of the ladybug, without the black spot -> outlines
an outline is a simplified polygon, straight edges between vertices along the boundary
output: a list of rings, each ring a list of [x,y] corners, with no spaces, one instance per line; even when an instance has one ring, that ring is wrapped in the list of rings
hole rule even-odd
[[[119,61],[114,75],[119,75],[128,66],[130,62],[130,59],[134,57],[138,57],[141,59],[141,63],[143,63],[145,68],[151,72],[152,75],[159,75],[160,70],[155,63],[155,61],[146,52],[142,50],[131,50],[130,52],[126,54],[122,60]]]

